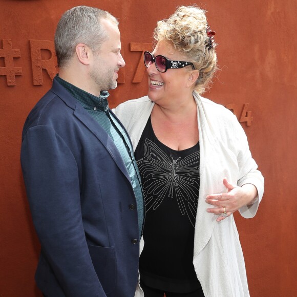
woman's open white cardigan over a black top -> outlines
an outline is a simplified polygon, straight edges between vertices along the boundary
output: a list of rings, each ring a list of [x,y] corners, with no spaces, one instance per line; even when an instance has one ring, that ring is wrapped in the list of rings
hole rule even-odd
[[[205,199],[208,194],[226,192],[224,177],[239,186],[251,183],[258,189],[258,199],[239,211],[244,218],[252,218],[263,196],[264,178],[251,157],[246,135],[236,116],[222,105],[199,96],[196,91],[193,96],[198,108],[200,145],[193,264],[205,297],[249,296],[234,217],[231,215],[218,223],[216,215],[206,212],[211,206]],[[144,96],[126,101],[113,110],[128,131],[134,151],[153,107],[154,102]],[[140,249],[142,251],[143,246]],[[143,296],[139,287],[135,296]]]

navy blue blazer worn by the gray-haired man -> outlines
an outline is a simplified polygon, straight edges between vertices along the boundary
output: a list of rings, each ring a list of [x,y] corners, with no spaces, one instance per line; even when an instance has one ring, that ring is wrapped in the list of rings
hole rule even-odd
[[[139,231],[128,171],[109,135],[66,89],[29,114],[21,163],[48,297],[132,297]]]

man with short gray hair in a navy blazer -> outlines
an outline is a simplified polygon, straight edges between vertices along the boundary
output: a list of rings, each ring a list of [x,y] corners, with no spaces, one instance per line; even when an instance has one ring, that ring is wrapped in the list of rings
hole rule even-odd
[[[21,153],[41,243],[37,286],[48,297],[131,297],[143,194],[130,139],[108,108],[125,65],[118,22],[74,7],[55,49],[59,75],[27,118]]]

